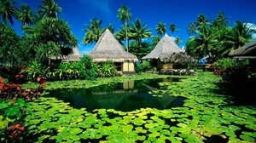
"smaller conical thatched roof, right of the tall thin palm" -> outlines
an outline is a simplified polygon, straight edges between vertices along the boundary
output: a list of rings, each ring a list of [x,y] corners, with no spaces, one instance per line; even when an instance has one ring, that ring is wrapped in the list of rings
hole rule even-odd
[[[142,59],[169,60],[172,54],[180,53],[181,51],[177,44],[173,42],[172,37],[166,34],[160,39],[160,42],[156,44],[154,49]]]

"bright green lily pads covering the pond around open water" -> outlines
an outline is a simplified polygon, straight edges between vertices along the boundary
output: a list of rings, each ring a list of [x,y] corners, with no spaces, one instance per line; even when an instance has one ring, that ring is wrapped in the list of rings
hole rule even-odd
[[[98,79],[96,84],[102,83]],[[221,80],[205,72],[181,82],[160,83],[152,94],[186,97],[182,107],[164,110],[141,108],[75,109],[61,100],[41,97],[32,102],[26,117],[26,136],[32,142],[255,142],[256,106],[236,106],[219,94]],[[107,80],[106,80],[107,81]],[[52,83],[54,84],[54,83]],[[86,88],[87,84],[84,84]]]

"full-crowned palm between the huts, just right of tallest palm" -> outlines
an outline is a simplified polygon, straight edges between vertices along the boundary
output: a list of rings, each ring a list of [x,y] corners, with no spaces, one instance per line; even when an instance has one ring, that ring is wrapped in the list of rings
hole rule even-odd
[[[141,43],[143,38],[151,37],[151,29],[147,29],[147,25],[142,25],[141,20],[137,19],[135,20],[135,23],[132,23],[131,27],[131,37],[135,39],[137,43],[137,49],[138,51],[141,50]]]

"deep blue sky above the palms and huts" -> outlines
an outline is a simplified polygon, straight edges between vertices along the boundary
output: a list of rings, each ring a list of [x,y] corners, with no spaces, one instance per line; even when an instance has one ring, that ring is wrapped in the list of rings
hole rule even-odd
[[[32,9],[37,9],[40,0],[16,0],[17,4],[27,3]],[[163,21],[166,23],[167,34],[172,36],[170,24],[175,24],[179,31],[174,32],[173,37],[180,37],[182,48],[189,39],[187,26],[196,20],[199,14],[206,14],[207,19],[214,20],[218,12],[223,12],[230,20],[230,26],[234,26],[236,20],[244,20],[256,28],[256,1],[255,0],[57,0],[62,8],[60,18],[67,21],[71,31],[79,40],[79,49],[82,54],[89,53],[95,44],[85,45],[82,43],[90,20],[97,18],[103,20],[102,27],[108,23],[118,31],[121,22],[117,18],[118,9],[122,4],[130,8],[131,22],[137,18],[151,29],[153,35],[157,35],[155,26]],[[15,22],[13,26],[20,35],[21,25]],[[255,37],[256,38],[256,37]]]

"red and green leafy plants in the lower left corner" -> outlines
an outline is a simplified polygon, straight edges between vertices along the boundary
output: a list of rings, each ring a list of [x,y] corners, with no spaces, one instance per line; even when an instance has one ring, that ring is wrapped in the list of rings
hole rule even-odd
[[[19,78],[19,75],[16,76]],[[19,79],[17,79],[19,80]],[[38,83],[45,85],[45,80],[38,77]],[[6,83],[0,77],[0,140],[4,142],[22,141],[24,118],[29,114],[29,101],[38,98],[44,87],[22,89],[20,84]]]

